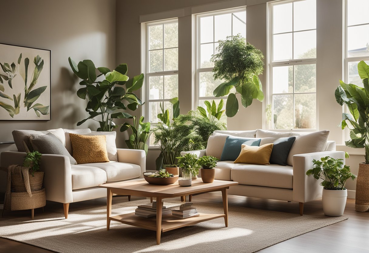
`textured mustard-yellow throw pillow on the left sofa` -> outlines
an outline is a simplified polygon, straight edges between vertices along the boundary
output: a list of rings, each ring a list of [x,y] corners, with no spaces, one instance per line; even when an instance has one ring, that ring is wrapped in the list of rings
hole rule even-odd
[[[109,162],[106,151],[106,135],[69,134],[72,156],[78,164]]]

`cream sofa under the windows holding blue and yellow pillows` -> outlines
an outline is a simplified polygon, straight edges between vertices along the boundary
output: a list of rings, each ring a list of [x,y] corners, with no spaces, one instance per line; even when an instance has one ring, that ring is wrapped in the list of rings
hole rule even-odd
[[[261,132],[261,134],[258,134],[258,131]],[[250,138],[296,136],[296,138],[299,138],[298,136],[311,134],[289,132],[281,134],[272,133],[272,136],[268,136],[268,132],[269,131],[259,129],[256,131],[215,131],[213,135],[226,134]],[[218,141],[214,143],[213,141],[210,143],[210,138],[211,136],[209,137],[206,150],[181,152],[181,155],[193,153],[199,157],[213,155],[220,158],[224,142]],[[297,139],[293,145],[296,143]],[[345,159],[344,152],[335,151],[334,141],[325,140],[325,143],[321,145],[322,149],[320,152],[291,156],[291,161],[293,161],[292,166],[276,164],[254,165],[234,163],[234,161],[218,161],[215,167],[215,179],[237,181],[239,183],[238,185],[230,187],[228,190],[228,194],[230,195],[299,202],[300,215],[303,215],[304,203],[321,198],[322,196],[323,186],[320,185],[321,181],[314,179],[313,176],[306,175],[306,171],[313,168],[313,159],[320,159],[324,156],[331,156],[335,159]],[[306,146],[306,148],[309,148],[308,144],[306,144]],[[292,146],[291,152],[293,148],[294,146]],[[291,152],[290,155],[292,155]],[[294,152],[296,152],[295,149]],[[199,176],[201,177],[201,175]]]

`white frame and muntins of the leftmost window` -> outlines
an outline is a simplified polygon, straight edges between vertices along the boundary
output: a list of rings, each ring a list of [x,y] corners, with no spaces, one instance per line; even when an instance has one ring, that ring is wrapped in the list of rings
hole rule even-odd
[[[150,69],[150,62],[149,62],[149,51],[155,51],[158,49],[154,49],[154,50],[149,50],[149,27],[150,26],[157,26],[158,24],[162,24],[164,26],[164,24],[173,24],[173,23],[178,23],[178,18],[172,18],[169,20],[160,20],[160,21],[153,21],[153,22],[148,22],[146,23],[146,48],[145,48],[145,54],[146,54],[146,63],[145,63],[145,101],[146,101],[146,109],[145,109],[145,118],[151,122],[152,126],[154,127],[156,123],[158,122],[153,122],[152,119],[150,118],[150,108],[149,108],[149,104],[150,102],[162,102],[162,106],[164,104],[164,102],[169,102],[170,99],[164,99],[164,94],[165,91],[163,90],[163,99],[150,99],[150,82],[149,79],[150,77],[155,77],[155,76],[165,76],[165,75],[178,75],[179,71],[178,70],[170,70],[170,71],[164,71],[164,49],[170,49],[170,48],[179,48],[177,47],[169,47],[169,48],[164,48],[164,29],[163,29],[163,48],[161,50],[163,50],[163,71],[159,71],[159,72],[148,72],[148,70]],[[163,84],[164,84],[164,79],[163,79]],[[164,84],[165,85],[165,84]],[[152,147],[152,146],[151,146]]]

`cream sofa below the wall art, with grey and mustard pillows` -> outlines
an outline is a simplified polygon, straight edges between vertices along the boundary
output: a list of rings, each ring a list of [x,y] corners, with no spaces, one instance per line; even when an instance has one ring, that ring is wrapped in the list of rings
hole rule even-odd
[[[79,129],[84,133],[90,129]],[[63,129],[69,137],[68,129]],[[77,131],[77,132],[78,132]],[[39,131],[30,131],[38,134]],[[42,133],[42,134],[45,134]],[[25,133],[27,135],[27,132]],[[1,153],[0,166],[22,165],[25,152],[22,150],[19,136],[14,136],[18,151]],[[71,150],[70,139],[65,139],[67,150]],[[115,142],[115,138],[114,138]],[[69,145],[69,146],[68,146]],[[69,147],[69,148],[68,148]],[[65,218],[68,217],[69,203],[106,197],[106,189],[98,185],[107,182],[125,181],[142,178],[146,170],[146,154],[143,150],[116,149],[117,161],[106,163],[86,163],[70,165],[69,157],[63,155],[41,156],[41,171],[45,172],[44,188],[46,200],[63,203]]]

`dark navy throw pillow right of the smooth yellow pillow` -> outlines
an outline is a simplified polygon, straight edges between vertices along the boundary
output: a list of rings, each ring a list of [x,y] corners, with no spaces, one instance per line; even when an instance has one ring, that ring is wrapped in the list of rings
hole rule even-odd
[[[272,154],[270,155],[269,163],[286,166],[287,157],[290,153],[296,137],[278,138],[273,143]]]

